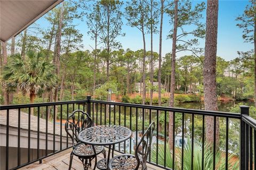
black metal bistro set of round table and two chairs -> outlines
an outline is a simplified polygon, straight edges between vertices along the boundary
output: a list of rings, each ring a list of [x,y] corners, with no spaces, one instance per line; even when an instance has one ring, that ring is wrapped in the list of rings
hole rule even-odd
[[[73,143],[69,169],[74,155],[82,161],[86,170],[92,166],[93,159],[93,169],[147,169],[154,129],[155,123],[152,122],[138,142],[134,155],[122,154],[114,157],[115,145],[131,138],[132,131],[120,125],[93,126],[89,114],[82,110],[74,111],[65,124],[65,130]],[[105,147],[108,147],[107,153]],[[97,161],[97,155],[101,153],[104,158]]]

